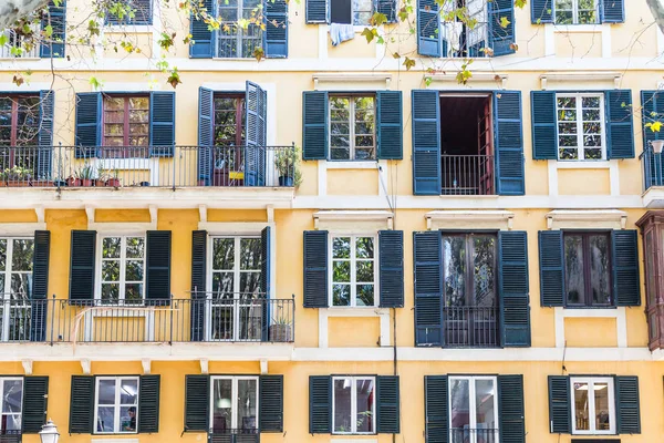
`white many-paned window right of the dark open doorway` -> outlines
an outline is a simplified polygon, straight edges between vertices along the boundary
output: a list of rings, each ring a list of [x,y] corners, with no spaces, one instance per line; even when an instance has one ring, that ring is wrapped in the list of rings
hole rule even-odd
[[[558,94],[558,159],[606,158],[603,94]]]

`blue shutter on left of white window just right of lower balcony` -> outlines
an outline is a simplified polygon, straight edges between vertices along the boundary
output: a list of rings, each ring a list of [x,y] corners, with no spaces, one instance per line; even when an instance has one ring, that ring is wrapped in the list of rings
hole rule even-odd
[[[328,307],[328,231],[304,231],[304,308]]]

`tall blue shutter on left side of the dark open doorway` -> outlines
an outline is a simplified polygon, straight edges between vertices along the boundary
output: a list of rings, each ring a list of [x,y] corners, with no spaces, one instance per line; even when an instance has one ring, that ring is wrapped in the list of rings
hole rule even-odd
[[[413,194],[440,195],[440,100],[413,91]]]

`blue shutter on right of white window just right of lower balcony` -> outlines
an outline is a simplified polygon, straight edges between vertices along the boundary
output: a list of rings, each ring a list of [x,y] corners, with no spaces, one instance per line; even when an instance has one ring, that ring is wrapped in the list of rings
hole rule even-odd
[[[404,307],[404,231],[378,231],[381,307]]]

